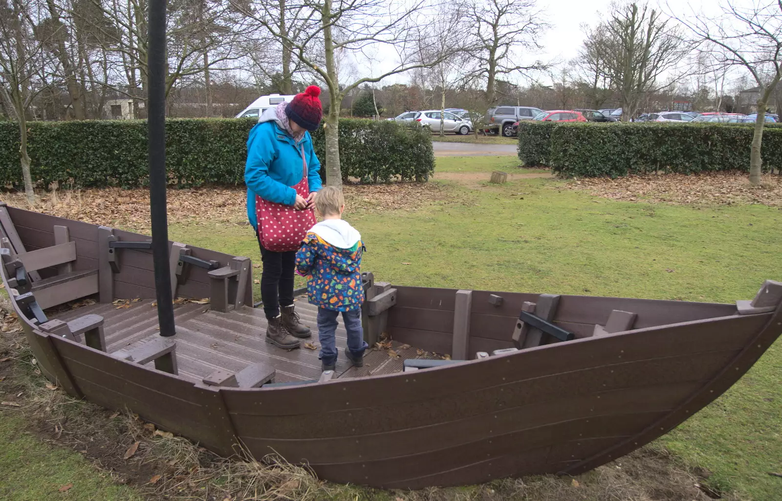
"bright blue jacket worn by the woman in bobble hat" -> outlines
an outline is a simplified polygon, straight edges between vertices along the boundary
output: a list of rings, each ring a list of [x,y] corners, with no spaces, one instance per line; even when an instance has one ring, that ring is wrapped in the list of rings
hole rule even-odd
[[[315,156],[309,132],[297,143],[278,123],[274,108],[267,109],[249,131],[245,184],[247,218],[254,228],[258,227],[255,195],[286,206],[296,203],[296,190],[291,187],[303,176],[302,149],[307,159],[310,191],[318,191],[321,189],[321,163]]]

